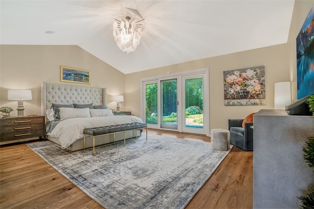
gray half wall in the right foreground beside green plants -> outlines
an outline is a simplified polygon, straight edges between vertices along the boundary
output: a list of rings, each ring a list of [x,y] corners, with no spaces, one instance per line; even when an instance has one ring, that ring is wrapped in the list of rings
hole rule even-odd
[[[253,208],[299,208],[297,197],[314,185],[313,168],[303,159],[308,137],[314,137],[313,116],[254,115]]]

